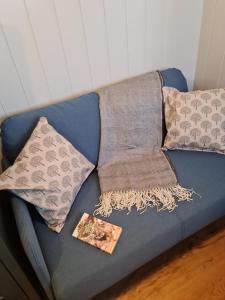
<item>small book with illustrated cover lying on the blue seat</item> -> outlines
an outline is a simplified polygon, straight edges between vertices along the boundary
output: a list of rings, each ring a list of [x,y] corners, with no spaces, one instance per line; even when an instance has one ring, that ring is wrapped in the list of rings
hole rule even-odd
[[[84,213],[72,236],[112,254],[121,232],[121,227]]]

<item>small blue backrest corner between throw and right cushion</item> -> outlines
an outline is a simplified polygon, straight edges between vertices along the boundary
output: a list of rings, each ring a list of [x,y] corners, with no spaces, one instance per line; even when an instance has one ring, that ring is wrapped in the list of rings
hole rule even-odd
[[[174,87],[181,92],[187,92],[187,81],[183,73],[175,68],[160,71],[162,75],[163,86]]]

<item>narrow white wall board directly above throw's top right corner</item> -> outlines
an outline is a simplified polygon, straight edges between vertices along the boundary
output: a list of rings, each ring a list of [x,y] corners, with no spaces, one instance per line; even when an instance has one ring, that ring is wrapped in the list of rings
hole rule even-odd
[[[164,67],[165,0],[146,0],[145,67],[156,70]]]

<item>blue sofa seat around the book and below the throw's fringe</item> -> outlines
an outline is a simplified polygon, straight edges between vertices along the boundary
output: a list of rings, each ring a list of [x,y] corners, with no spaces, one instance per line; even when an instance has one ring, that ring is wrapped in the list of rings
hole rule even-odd
[[[225,214],[225,157],[188,151],[169,153],[181,184],[201,194],[172,212],[149,208],[128,216],[114,211],[106,221],[122,226],[113,255],[71,237],[82,213],[93,213],[99,187],[94,172],[79,192],[66,225],[57,235],[32,210],[34,227],[57,299],[86,299],[134,271],[178,241]]]

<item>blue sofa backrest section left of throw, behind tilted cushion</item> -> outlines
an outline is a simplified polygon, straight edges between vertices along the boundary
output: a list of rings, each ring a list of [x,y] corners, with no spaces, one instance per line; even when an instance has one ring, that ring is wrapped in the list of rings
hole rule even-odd
[[[41,116],[47,117],[49,123],[93,164],[97,163],[100,119],[96,93],[7,118],[1,125],[2,144],[10,162],[18,156]]]

